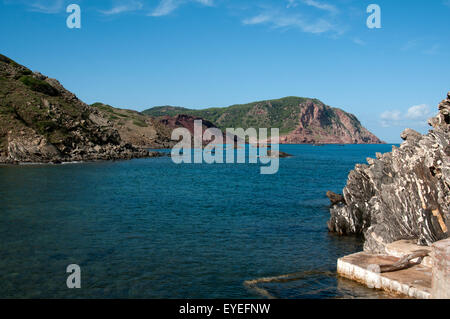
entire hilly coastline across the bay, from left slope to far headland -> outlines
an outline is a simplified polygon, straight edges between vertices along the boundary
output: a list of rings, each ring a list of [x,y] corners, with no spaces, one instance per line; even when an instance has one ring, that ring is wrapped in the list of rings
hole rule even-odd
[[[195,120],[202,120],[203,131],[218,128],[224,132],[225,127],[248,127],[249,123],[280,126],[291,131],[289,138],[280,138],[280,144],[383,143],[354,115],[316,99],[287,97],[200,111],[166,109],[146,113],[100,102],[88,105],[56,79],[0,54],[0,164],[161,156],[148,149],[173,147],[177,142],[171,140],[172,131],[183,127],[192,133]],[[241,119],[241,113],[247,120]],[[208,120],[209,116],[214,120]]]

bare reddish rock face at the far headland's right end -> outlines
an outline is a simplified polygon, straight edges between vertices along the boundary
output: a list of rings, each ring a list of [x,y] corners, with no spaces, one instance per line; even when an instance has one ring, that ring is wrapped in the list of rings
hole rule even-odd
[[[282,144],[382,144],[358,119],[340,109],[307,102],[297,128],[280,137]]]

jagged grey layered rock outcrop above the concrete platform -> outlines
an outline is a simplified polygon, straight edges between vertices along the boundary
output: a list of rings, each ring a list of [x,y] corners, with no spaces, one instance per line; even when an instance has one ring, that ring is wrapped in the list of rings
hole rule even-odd
[[[343,190],[346,204],[330,209],[330,231],[363,234],[372,253],[401,239],[429,246],[449,237],[450,93],[429,124],[428,134],[407,129],[399,148],[356,165]]]

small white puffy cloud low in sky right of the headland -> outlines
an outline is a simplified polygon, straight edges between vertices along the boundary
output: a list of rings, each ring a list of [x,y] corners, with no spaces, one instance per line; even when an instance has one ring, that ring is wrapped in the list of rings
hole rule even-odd
[[[431,109],[426,104],[411,106],[406,112],[399,110],[385,111],[381,113],[381,126],[383,127],[407,127],[426,126],[427,120],[432,116]]]

